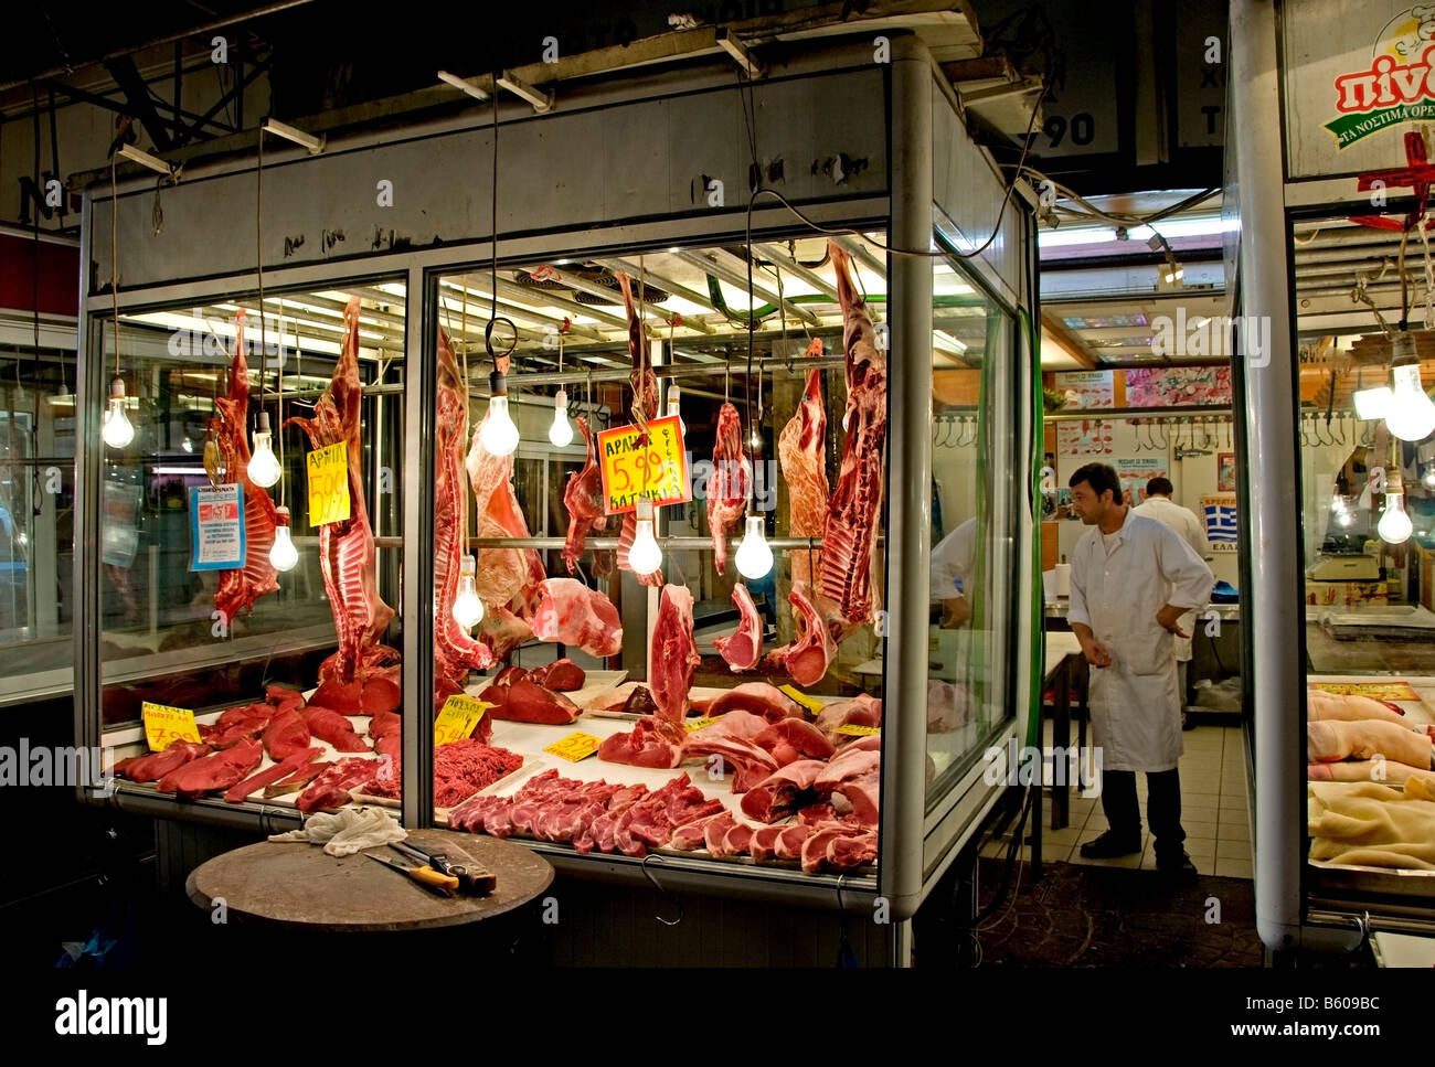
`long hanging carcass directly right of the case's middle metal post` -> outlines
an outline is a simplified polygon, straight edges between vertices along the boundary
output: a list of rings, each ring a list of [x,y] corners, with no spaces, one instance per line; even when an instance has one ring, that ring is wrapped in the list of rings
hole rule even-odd
[[[438,396],[433,455],[433,683],[445,693],[462,688],[469,668],[485,670],[494,653],[453,618],[464,565],[464,443],[468,392],[448,334],[439,327]]]

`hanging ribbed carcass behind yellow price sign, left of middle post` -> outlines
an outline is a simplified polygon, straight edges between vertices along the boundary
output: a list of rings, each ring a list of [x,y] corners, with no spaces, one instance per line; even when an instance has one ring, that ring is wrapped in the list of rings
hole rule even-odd
[[[340,442],[349,449],[349,518],[319,528],[319,566],[334,612],[339,653],[334,675],[350,683],[364,651],[376,645],[393,620],[393,608],[379,597],[373,528],[363,490],[363,447],[359,419],[363,400],[359,381],[359,297],[344,308],[343,350],[329,389],[314,403],[313,419],[288,419],[309,436],[314,449]]]

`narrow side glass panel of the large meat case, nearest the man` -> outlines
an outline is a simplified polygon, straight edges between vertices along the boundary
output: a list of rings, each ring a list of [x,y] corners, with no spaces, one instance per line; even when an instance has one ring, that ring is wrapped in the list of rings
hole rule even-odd
[[[933,267],[927,803],[1010,719],[1016,581],[1012,318],[953,262]]]

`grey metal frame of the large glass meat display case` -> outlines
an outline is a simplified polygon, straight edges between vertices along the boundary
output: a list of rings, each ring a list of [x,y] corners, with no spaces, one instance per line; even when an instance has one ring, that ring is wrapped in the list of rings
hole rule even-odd
[[[874,63],[870,40],[822,44],[792,52],[786,62],[751,85],[765,151],[789,159],[784,195],[824,225],[874,225],[887,231],[897,247],[928,248],[933,242],[934,202],[946,217],[944,232],[957,247],[976,248],[992,232],[1002,205],[1002,234],[982,255],[967,261],[984,287],[1002,297],[1013,313],[1012,373],[1017,397],[1030,394],[1036,354],[1017,326],[1016,316],[1035,316],[1035,225],[1027,202],[1004,196],[999,172],[966,135],[960,105],[941,77],[927,49],[914,37],[894,34],[891,62]],[[739,92],[733,72],[722,60],[684,70],[646,73],[643,79],[597,79],[583,89],[564,90],[563,106],[532,115],[525,106],[502,105],[499,136],[499,234],[501,264],[544,261],[554,255],[627,254],[667,245],[742,241],[746,196],[748,148],[740,136]],[[875,93],[875,96],[874,96]],[[824,115],[822,123],[808,122],[799,112],[786,125],[784,108],[796,106]],[[413,237],[412,247],[397,242],[372,255],[293,265],[293,260],[268,254],[265,287],[276,291],[297,287],[343,287],[360,278],[402,277],[406,281],[405,353],[405,450],[403,450],[403,544],[409,551],[402,564],[403,625],[403,763],[432,766],[432,730],[422,710],[432,694],[432,483],[433,483],[433,392],[436,377],[435,324],[441,275],[456,270],[486,271],[491,255],[488,234],[491,166],[491,105],[449,119],[415,125],[385,133],[364,132],[330,138],[320,156],[303,151],[267,152],[265,169],[283,169],[265,184],[265,225],[276,235],[343,228],[349,234],[385,232]],[[654,123],[657,123],[654,126]],[[819,128],[821,126],[821,128]],[[728,131],[723,141],[712,131]],[[656,131],[656,132],[654,132]],[[649,149],[646,163],[611,188],[601,172],[630,166],[637,146],[666,143],[669,156]],[[515,146],[517,145],[517,146]],[[845,151],[865,156],[871,165],[844,185],[817,168],[806,174],[806,159]],[[682,165],[674,162],[682,153]],[[574,161],[593,159],[600,175],[584,185],[568,185],[564,198],[554,199],[548,184],[525,182],[524,175],[573,174]],[[643,169],[650,165],[654,174]],[[674,174],[669,178],[669,169]],[[682,174],[677,174],[677,172]],[[690,202],[687,172],[728,176],[729,205],[707,209]],[[662,172],[660,175],[656,172]],[[346,176],[347,175],[347,176]],[[890,176],[890,185],[888,185]],[[400,209],[375,205],[375,181],[395,182],[395,204]],[[634,186],[637,186],[634,189]],[[154,181],[126,179],[119,196],[119,242],[123,275],[121,313],[161,305],[188,305],[237,290],[253,291],[254,231],[248,212],[253,204],[253,159],[222,159],[187,168],[182,181],[164,192],[165,238],[155,247],[149,237]],[[462,195],[459,195],[462,191]],[[346,196],[352,192],[352,202]],[[649,199],[644,201],[644,196]],[[273,202],[271,202],[273,201]],[[577,204],[574,204],[577,201]],[[109,262],[108,181],[89,188],[85,196],[85,241],[82,262],[100,264],[99,285]],[[230,209],[230,205],[243,208]],[[390,221],[392,219],[392,221]],[[785,208],[759,199],[752,208],[753,238],[763,240],[809,234]],[[432,235],[433,242],[428,242]],[[420,242],[419,238],[423,238]],[[438,240],[441,238],[441,240]],[[367,237],[363,238],[367,241]],[[310,242],[311,245],[317,242]],[[301,250],[309,251],[309,250]],[[177,258],[178,257],[178,258]],[[888,265],[885,321],[891,327],[890,351],[923,351],[931,336],[930,258],[893,255]],[[99,439],[103,373],[86,359],[92,346],[90,324],[108,317],[110,297],[90,287],[89,270],[80,278],[86,294],[80,321],[82,374],[80,433],[86,442]],[[179,280],[184,278],[184,280]],[[1003,359],[1006,353],[1003,353]],[[662,374],[662,369],[659,369]],[[511,384],[521,386],[515,373]],[[926,759],[927,694],[927,569],[930,559],[930,410],[931,373],[927,359],[890,364],[888,432],[888,526],[887,605],[891,608],[887,651],[894,670],[884,675],[881,853],[877,878],[801,875],[748,865],[663,856],[664,883],[673,888],[720,889],[725,895],[785,901],[796,905],[839,906],[838,889],[848,906],[871,908],[878,898],[890,901],[891,919],[910,918],[923,896],[946,871],[996,805],[1002,787],[983,782],[982,764],[967,767],[953,789],[928,810],[920,769]],[[1025,407],[1020,410],[1025,412]],[[1026,737],[1030,694],[1030,657],[1026,640],[1039,640],[1039,618],[1032,612],[1032,568],[1035,526],[1029,501],[1020,502],[1020,483],[1029,480],[1033,422],[1029,413],[1015,416],[1012,430],[1015,465],[1022,470],[1013,496],[1013,526],[1003,531],[1016,545],[1017,597],[1010,618],[1013,650],[1012,684],[1006,726],[993,744],[1004,744],[1015,733]],[[85,450],[79,468],[76,529],[93,539],[98,531],[96,485],[100,456]],[[997,485],[1003,479],[994,479]],[[1020,505],[1020,506],[1019,506]],[[93,555],[93,542],[89,545]],[[98,564],[79,568],[76,624],[76,737],[98,743],[100,660]],[[122,806],[138,806],[168,819],[224,820],[258,829],[263,816],[225,805],[171,805],[148,799],[142,803],[118,796]],[[268,809],[273,812],[273,809]],[[432,776],[405,774],[402,815],[408,825],[432,819]],[[268,826],[271,822],[264,822]],[[591,879],[641,883],[641,865],[626,856],[575,856],[570,850],[525,842],[540,849],[560,868]]]

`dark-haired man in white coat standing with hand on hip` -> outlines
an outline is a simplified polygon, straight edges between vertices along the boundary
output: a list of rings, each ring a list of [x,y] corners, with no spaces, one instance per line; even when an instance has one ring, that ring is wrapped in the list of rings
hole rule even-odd
[[[1091,721],[1101,746],[1101,803],[1109,829],[1088,858],[1141,852],[1137,774],[1147,773],[1147,820],[1157,869],[1191,881],[1181,829],[1181,698],[1174,641],[1181,615],[1204,607],[1211,571],[1170,526],[1122,503],[1116,472],[1088,463],[1071,476],[1072,508],[1088,529],[1072,552],[1068,615],[1091,664]]]

